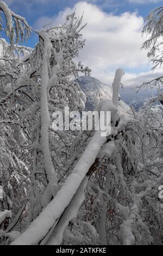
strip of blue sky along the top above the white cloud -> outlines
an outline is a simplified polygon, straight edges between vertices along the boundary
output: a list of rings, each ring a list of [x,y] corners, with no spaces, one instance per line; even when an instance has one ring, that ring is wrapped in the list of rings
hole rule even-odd
[[[4,0],[9,7],[17,13],[26,17],[27,21],[33,25],[41,16],[54,16],[66,7],[73,8],[77,0]],[[130,11],[137,11],[142,17],[146,17],[149,12],[161,5],[159,0],[92,0],[81,1],[96,4],[106,13],[116,12],[117,15]]]

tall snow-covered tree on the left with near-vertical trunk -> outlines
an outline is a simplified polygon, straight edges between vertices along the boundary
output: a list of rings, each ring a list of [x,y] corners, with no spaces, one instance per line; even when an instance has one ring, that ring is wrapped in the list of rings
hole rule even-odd
[[[3,2],[1,9],[7,21],[7,35],[9,28],[12,30],[13,18],[15,22],[18,19],[19,25],[24,23],[27,37],[29,26],[26,20],[12,13]],[[89,75],[90,69],[83,68],[80,63],[77,65],[73,60],[85,42],[80,34],[84,27],[80,26],[81,23],[82,17],[77,19],[73,13],[59,28],[35,31],[39,43],[33,50],[17,45],[18,39],[14,41],[12,33],[10,44],[1,39],[0,101],[4,108],[11,102],[10,111],[14,112],[12,121],[7,118],[11,115],[6,115],[1,123],[20,126],[25,138],[20,144],[29,154],[29,173],[23,174],[18,186],[27,189],[30,182],[30,190],[23,198],[29,208],[28,223],[55,197],[74,159],[68,135],[53,130],[52,114],[57,110],[64,111],[65,106],[73,110],[84,108],[85,95],[76,78],[78,71]],[[19,29],[16,27],[17,35]],[[33,29],[30,28],[30,31]],[[18,217],[19,213],[14,222]]]

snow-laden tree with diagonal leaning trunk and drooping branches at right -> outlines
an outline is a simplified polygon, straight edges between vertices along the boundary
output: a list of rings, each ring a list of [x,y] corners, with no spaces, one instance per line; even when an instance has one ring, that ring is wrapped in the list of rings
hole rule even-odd
[[[115,81],[120,82],[119,78]],[[158,187],[162,173],[155,158],[151,164],[151,152],[154,145],[159,148],[162,127],[153,124],[153,116],[149,118],[146,112],[120,115],[111,100],[100,102],[97,109],[114,113],[111,135],[93,132],[61,190],[13,245],[59,245],[63,240],[64,244],[161,243]]]

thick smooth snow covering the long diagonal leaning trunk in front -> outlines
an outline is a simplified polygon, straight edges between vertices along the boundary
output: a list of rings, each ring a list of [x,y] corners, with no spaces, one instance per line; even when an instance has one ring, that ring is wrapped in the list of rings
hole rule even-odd
[[[111,111],[112,105],[110,101],[108,101],[108,106],[106,104],[106,100],[103,103],[100,102],[101,107],[99,110],[103,109],[103,111]],[[62,186],[60,191],[58,191],[55,198],[29,225],[27,230],[24,231],[24,233],[14,242],[12,242],[11,245],[36,245],[40,240],[43,239],[43,237],[46,236],[54,223],[61,216],[62,212],[64,212],[68,204],[70,204],[74,194],[76,194],[80,186],[80,183],[84,179],[91,165],[95,162],[99,150],[105,141],[106,137],[101,136],[101,130],[96,131],[90,143],[87,145],[84,153],[80,157],[80,160],[74,167],[72,174],[68,176],[65,184]]]

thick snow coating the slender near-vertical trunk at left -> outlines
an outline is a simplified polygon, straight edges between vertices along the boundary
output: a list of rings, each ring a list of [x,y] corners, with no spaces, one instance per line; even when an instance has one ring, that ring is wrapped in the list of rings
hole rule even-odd
[[[45,30],[40,31],[40,36],[43,40],[43,60],[42,60],[42,70],[41,70],[41,139],[42,139],[42,148],[43,148],[43,159],[45,164],[45,170],[47,173],[47,178],[49,184],[46,188],[45,193],[42,197],[42,205],[45,207],[56,194],[57,187],[57,174],[55,173],[53,162],[51,158],[51,153],[49,150],[49,138],[48,138],[48,129],[50,124],[50,116],[48,109],[48,99],[47,99],[47,87],[49,84],[49,75],[48,75],[48,58],[51,56],[52,44],[49,40],[49,36],[45,33]]]

